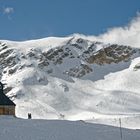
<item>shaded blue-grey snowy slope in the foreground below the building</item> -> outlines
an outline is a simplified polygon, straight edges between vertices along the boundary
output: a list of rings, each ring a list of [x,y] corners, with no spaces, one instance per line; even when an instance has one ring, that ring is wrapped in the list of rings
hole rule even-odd
[[[118,140],[120,129],[82,121],[23,120],[0,117],[2,140]],[[140,130],[122,129],[122,138],[140,139]]]

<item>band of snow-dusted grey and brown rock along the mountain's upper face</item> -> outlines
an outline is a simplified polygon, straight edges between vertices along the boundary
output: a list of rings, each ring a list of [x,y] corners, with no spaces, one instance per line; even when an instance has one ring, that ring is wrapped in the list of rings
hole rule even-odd
[[[67,69],[62,69],[62,73],[80,78],[93,71],[91,68],[93,64],[103,65],[129,61],[136,52],[137,50],[132,49],[130,46],[103,44],[82,38],[72,38],[62,46],[56,46],[47,51],[31,48],[26,53],[22,52],[22,50],[10,48],[6,43],[1,42],[0,78],[2,73],[12,75],[27,67],[45,69],[50,74],[53,73],[54,67],[57,65],[66,67],[66,63],[71,66]],[[70,60],[78,63],[68,64],[72,62]]]

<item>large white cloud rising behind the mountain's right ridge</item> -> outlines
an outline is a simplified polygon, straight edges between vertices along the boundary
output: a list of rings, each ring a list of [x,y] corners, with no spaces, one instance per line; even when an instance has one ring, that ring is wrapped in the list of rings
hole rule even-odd
[[[86,38],[140,48],[140,13],[137,13],[137,16],[124,27],[114,27],[99,36],[88,36]]]

